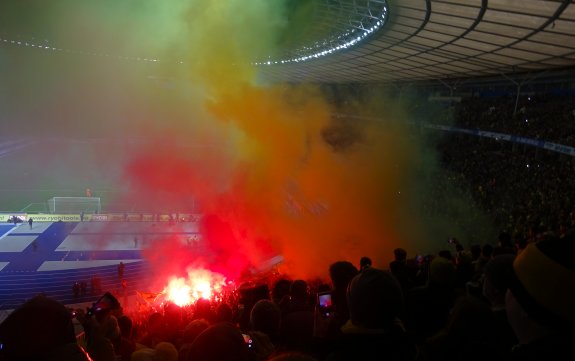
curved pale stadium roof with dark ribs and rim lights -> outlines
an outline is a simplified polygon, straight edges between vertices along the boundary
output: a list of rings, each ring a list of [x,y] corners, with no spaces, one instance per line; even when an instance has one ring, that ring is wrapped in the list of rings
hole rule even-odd
[[[307,60],[263,62],[259,66],[265,79],[321,83],[445,80],[575,66],[575,5],[570,0],[321,3],[337,5],[340,10],[347,3],[348,13],[356,19],[340,21],[339,28],[332,30],[363,30],[365,39],[333,52],[319,51],[316,55],[320,56]],[[353,8],[352,3],[361,6]],[[373,33],[356,21],[358,12],[371,16],[370,7],[384,9],[386,17]]]

